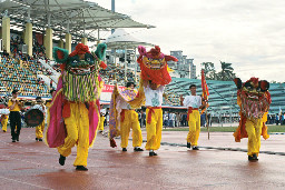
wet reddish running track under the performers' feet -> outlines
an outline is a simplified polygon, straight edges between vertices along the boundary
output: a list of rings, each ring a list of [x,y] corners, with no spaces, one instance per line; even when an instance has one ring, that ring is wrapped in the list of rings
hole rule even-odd
[[[164,142],[185,143],[187,132],[164,132]],[[145,131],[142,132],[146,139]],[[246,148],[247,140],[235,143],[232,133],[200,134],[200,146],[235,146]],[[120,140],[117,140],[117,144]],[[285,136],[272,136],[262,141],[262,149],[284,152]],[[145,143],[144,143],[145,146]],[[274,149],[275,148],[275,149]],[[56,149],[35,141],[35,129],[24,128],[20,142],[12,143],[10,132],[0,132],[0,189],[284,189],[285,157],[259,156],[248,162],[246,152],[161,146],[157,157],[134,152],[131,141],[127,152],[109,147],[108,139],[97,136],[89,150],[89,171],[76,171],[72,166],[76,148],[59,166]]]

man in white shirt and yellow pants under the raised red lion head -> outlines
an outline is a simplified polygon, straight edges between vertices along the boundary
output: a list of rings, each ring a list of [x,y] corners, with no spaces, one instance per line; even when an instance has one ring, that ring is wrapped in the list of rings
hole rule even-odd
[[[149,157],[157,156],[154,150],[158,150],[161,141],[163,130],[163,94],[165,86],[157,86],[149,81],[145,83],[144,91],[146,96],[146,130],[147,144],[146,150],[149,150]]]

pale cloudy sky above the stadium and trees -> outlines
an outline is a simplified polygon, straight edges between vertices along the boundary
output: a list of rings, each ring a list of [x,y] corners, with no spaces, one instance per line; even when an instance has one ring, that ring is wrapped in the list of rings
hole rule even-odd
[[[111,0],[91,0],[111,9]],[[243,81],[250,77],[285,82],[284,0],[116,0],[116,12],[154,29],[129,29],[134,37],[158,44],[161,52],[181,50],[202,62],[233,63]],[[110,32],[101,32],[107,38]]]

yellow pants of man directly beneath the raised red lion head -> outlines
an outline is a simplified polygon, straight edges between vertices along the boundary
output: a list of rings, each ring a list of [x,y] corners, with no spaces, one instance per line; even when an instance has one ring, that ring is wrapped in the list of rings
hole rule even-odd
[[[149,108],[147,108],[146,117],[148,117]],[[147,129],[147,144],[146,150],[157,150],[160,147],[161,131],[163,131],[163,110],[154,109],[151,113],[151,122],[146,123]]]

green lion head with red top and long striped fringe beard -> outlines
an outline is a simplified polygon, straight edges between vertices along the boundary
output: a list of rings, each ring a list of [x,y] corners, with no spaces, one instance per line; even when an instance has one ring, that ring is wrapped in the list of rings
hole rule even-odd
[[[75,51],[53,48],[53,57],[61,63],[63,94],[69,101],[89,102],[99,96],[99,69],[107,66],[102,61],[107,46],[100,43],[95,52],[88,46],[78,43]]]

